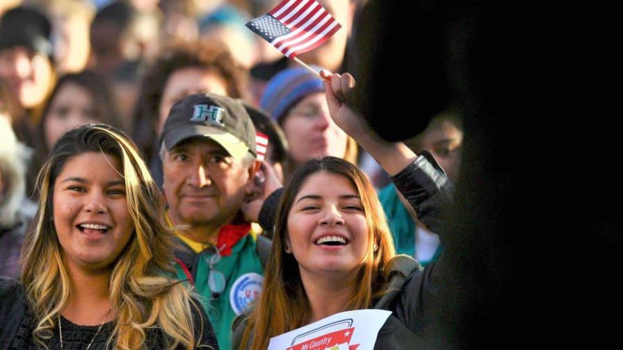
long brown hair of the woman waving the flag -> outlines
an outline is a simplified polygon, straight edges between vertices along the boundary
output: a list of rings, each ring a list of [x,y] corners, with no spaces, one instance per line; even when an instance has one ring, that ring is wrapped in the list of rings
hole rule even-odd
[[[394,242],[370,181],[355,165],[341,158],[310,160],[294,172],[277,209],[273,247],[264,273],[264,292],[247,320],[241,349],[266,349],[271,337],[303,326],[310,313],[309,299],[300,279],[298,263],[293,255],[285,253],[284,240],[294,199],[307,178],[318,172],[338,174],[353,183],[362,199],[368,224],[370,244],[357,272],[355,292],[344,310],[369,308],[387,284],[383,269],[395,255]],[[378,245],[378,250],[373,249],[374,245]]]

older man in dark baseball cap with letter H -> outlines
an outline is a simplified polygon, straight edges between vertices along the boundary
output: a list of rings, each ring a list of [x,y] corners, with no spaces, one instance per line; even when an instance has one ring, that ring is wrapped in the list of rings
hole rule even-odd
[[[194,94],[171,108],[160,141],[167,219],[184,246],[178,276],[202,294],[220,349],[230,349],[231,324],[261,292],[269,250],[240,210],[259,168],[255,128],[235,99]]]

